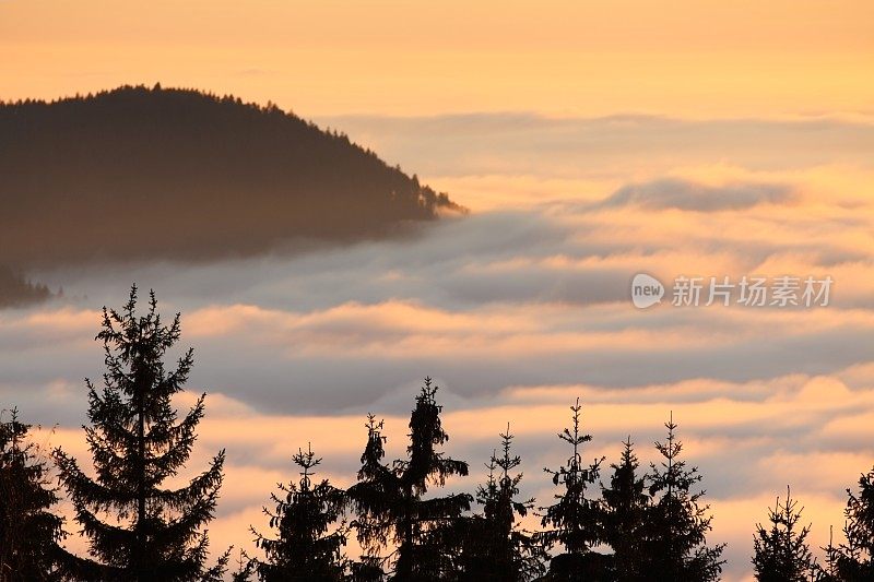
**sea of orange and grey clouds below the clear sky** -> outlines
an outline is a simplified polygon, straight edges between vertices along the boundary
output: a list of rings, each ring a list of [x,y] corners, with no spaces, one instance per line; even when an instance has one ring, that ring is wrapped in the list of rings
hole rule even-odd
[[[442,387],[452,454],[479,470],[511,421],[525,492],[541,499],[551,486],[540,470],[562,458],[554,435],[576,396],[594,436],[587,454],[611,460],[629,433],[654,460],[650,443],[673,411],[705,475],[713,541],[730,543],[727,580],[748,578],[754,524],[787,484],[814,542],[826,542],[843,488],[874,462],[867,126],[379,123],[388,150],[429,167],[429,183],[475,212],[400,240],[291,258],[45,270],[36,276],[63,284],[63,297],[0,312],[0,401],[59,423],[49,440],[86,456],[76,427],[82,378],[102,372],[98,309],[119,305],[135,281],[157,290],[163,310],[182,312],[192,391],[211,394],[192,471],[228,449],[215,548],[263,525],[260,504],[308,441],[326,475],[347,484],[366,412],[386,416],[391,454],[402,454],[425,375]],[[429,139],[408,150],[411,126]],[[600,138],[581,150],[592,128]],[[666,284],[663,305],[631,306],[638,272]],[[834,287],[827,307],[673,307],[681,275],[831,276]]]

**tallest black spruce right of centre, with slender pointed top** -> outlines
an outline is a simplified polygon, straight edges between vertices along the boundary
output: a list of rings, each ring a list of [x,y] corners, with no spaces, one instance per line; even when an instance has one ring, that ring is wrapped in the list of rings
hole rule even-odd
[[[581,432],[580,400],[570,407],[572,411],[571,428],[565,428],[558,438],[568,443],[572,454],[557,470],[544,468],[552,475],[553,485],[563,490],[555,495],[555,503],[541,508],[541,524],[546,527],[539,538],[547,547],[560,544],[565,554],[553,558],[550,573],[556,580],[576,579],[581,575],[592,578],[603,569],[602,556],[591,555],[591,548],[599,542],[600,503],[595,498],[586,496],[587,489],[598,482],[602,459],[591,464],[582,461],[582,446],[592,440],[591,435]]]

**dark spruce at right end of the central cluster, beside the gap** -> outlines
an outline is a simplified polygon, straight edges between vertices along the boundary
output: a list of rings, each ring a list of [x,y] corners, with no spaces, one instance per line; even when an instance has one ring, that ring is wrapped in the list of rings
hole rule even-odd
[[[676,439],[676,424],[664,425],[668,440],[656,442],[664,460],[650,465],[647,475],[653,498],[645,525],[642,572],[645,580],[702,582],[718,580],[724,560],[724,545],[707,546],[712,516],[709,506],[700,504],[704,491],[692,492],[701,480],[698,467],[686,468],[680,460],[683,444]]]

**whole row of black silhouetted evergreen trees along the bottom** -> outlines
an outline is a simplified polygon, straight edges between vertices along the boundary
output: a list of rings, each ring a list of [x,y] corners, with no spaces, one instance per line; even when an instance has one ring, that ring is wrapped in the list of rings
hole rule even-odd
[[[553,502],[538,507],[520,498],[521,463],[508,425],[475,495],[439,495],[468,463],[442,451],[437,387],[425,379],[410,418],[403,459],[386,460],[383,425],[367,418],[366,444],[354,485],[342,489],[316,478],[321,459],[312,450],[293,455],[299,478],[272,494],[269,532],[251,530],[263,554],[231,550],[209,563],[206,525],[222,485],[224,451],[186,486],[167,480],[189,459],[204,396],[179,417],[172,404],[191,370],[192,352],[165,368],[180,337],[177,313],[169,324],[150,294],[138,314],[137,288],[120,311],[104,309],[97,340],[104,344],[102,385],[86,381],[85,436],[93,472],[56,449],[52,461],[87,538],[90,556],[63,548],[63,520],[56,513],[60,489],[48,460],[28,438],[29,427],[12,413],[0,423],[0,580],[123,581],[711,581],[721,575],[724,545],[708,545],[712,515],[699,489],[697,467],[681,459],[673,418],[657,442],[661,456],[641,474],[630,438],[602,482],[604,459],[583,461],[591,436],[582,408],[571,406],[571,425],[558,438],[568,451],[547,468]],[[605,473],[607,473],[605,471]],[[93,475],[93,476],[92,476]],[[787,491],[769,510],[768,525],[754,536],[753,565],[761,581],[874,580],[874,470],[848,490],[847,542],[826,549],[818,565],[810,525]],[[539,531],[523,527],[534,513]],[[363,555],[344,548],[356,536]],[[548,566],[547,566],[548,565]]]

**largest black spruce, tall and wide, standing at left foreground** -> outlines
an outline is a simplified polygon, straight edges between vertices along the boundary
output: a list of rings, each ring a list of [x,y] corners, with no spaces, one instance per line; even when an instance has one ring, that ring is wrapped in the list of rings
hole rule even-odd
[[[203,526],[213,518],[222,485],[221,451],[210,467],[180,489],[164,483],[185,465],[203,417],[201,395],[181,419],[172,397],[182,390],[193,363],[188,349],[173,371],[163,358],[179,340],[177,313],[169,326],[156,312],[150,294],[145,316],[135,313],[137,286],[125,308],[103,312],[107,371],[104,385],[88,389],[90,427],[85,437],[96,478],[86,475],[60,449],[56,461],[60,480],[88,537],[96,561],[83,561],[87,580],[188,581],[218,580],[225,554],[206,567],[208,537]]]

